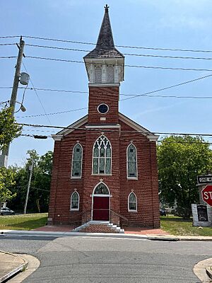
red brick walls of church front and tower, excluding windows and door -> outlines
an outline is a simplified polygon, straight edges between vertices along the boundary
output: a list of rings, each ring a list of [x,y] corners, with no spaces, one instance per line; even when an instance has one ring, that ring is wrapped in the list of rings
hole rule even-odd
[[[88,118],[84,118],[84,125],[81,129],[64,132],[61,140],[55,141],[49,222],[78,226],[92,220],[93,189],[102,182],[110,190],[112,223],[119,224],[124,221],[124,216],[130,226],[160,226],[155,141],[150,141],[146,133],[136,131],[134,122],[128,118],[127,124],[124,122],[123,115],[118,112],[118,100],[117,87],[90,87]],[[106,103],[110,108],[105,115],[98,112],[100,103]],[[101,117],[106,120],[100,120]],[[110,175],[94,175],[92,172],[93,144],[102,134],[112,146]],[[82,175],[73,179],[71,161],[77,142],[83,147]],[[127,178],[126,172],[126,149],[131,142],[137,150],[137,180]],[[80,196],[78,211],[70,211],[74,190]],[[137,212],[128,211],[128,197],[132,191],[137,197]]]

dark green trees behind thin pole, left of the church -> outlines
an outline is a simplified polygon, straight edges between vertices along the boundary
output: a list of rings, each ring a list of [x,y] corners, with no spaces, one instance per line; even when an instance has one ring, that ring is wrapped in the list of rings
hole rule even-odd
[[[29,158],[23,168],[13,167],[15,172],[16,185],[13,192],[17,192],[15,199],[9,202],[8,206],[16,211],[22,211],[25,203],[25,196],[30,175],[29,166],[33,161],[33,175],[30,184],[28,198],[28,212],[47,212],[49,206],[49,192],[52,177],[52,151],[39,156],[33,149],[28,151]]]

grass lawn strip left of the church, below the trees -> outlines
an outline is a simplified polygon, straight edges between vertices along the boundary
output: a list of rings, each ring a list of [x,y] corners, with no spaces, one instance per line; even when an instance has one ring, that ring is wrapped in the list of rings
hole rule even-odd
[[[0,230],[32,230],[47,223],[47,213],[0,216]]]

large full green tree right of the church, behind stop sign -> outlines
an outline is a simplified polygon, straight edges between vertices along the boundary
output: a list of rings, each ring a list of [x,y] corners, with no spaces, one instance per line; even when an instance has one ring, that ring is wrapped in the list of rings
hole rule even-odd
[[[199,202],[196,176],[211,171],[212,153],[200,137],[166,137],[158,146],[160,200],[184,219],[192,214],[191,204]]]

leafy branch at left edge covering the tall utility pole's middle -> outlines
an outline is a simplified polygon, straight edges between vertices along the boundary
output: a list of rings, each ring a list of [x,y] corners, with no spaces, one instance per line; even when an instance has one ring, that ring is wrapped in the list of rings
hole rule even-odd
[[[11,108],[0,111],[0,150],[21,134],[22,127],[16,123],[11,113]]]

